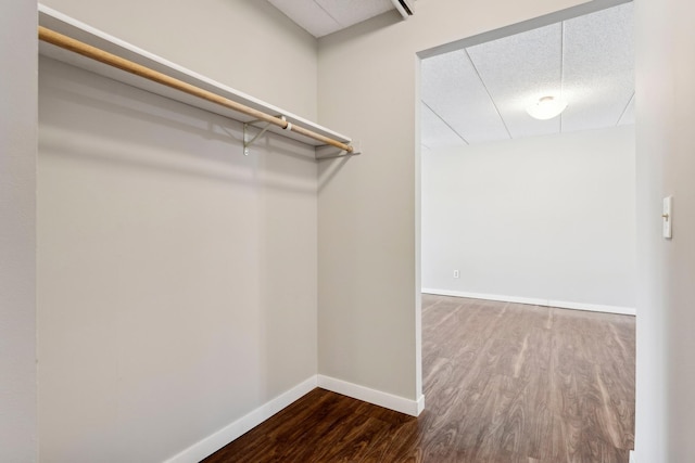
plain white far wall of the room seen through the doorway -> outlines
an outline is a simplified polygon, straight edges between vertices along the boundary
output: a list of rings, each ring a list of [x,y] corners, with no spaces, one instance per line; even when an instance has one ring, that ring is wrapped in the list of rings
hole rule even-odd
[[[426,150],[422,287],[633,309],[634,209],[634,126]]]

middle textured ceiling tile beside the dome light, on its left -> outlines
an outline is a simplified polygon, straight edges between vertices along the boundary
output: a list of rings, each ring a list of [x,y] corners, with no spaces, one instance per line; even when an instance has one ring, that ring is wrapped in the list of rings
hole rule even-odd
[[[559,131],[559,117],[538,120],[526,108],[560,91],[560,37],[558,23],[468,48],[513,138]]]

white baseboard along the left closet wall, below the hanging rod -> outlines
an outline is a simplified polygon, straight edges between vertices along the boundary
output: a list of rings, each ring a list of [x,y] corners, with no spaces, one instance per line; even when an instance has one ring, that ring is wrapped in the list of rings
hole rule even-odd
[[[242,434],[253,429],[283,408],[307,395],[317,387],[316,376],[298,384],[275,399],[264,403],[233,423],[225,426],[213,435],[193,443],[188,449],[166,460],[165,463],[197,463],[208,456]]]

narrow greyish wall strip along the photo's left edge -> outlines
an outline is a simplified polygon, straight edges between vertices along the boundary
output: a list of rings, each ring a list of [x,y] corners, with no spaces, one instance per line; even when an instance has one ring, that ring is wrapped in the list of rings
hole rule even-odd
[[[37,458],[36,3],[0,3],[0,461]]]

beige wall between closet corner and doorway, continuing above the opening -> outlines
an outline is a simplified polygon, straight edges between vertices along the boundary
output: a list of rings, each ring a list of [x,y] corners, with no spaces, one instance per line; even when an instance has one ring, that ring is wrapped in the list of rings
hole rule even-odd
[[[319,40],[319,120],[364,152],[319,167],[319,373],[420,395],[416,53],[577,3],[427,0]]]

